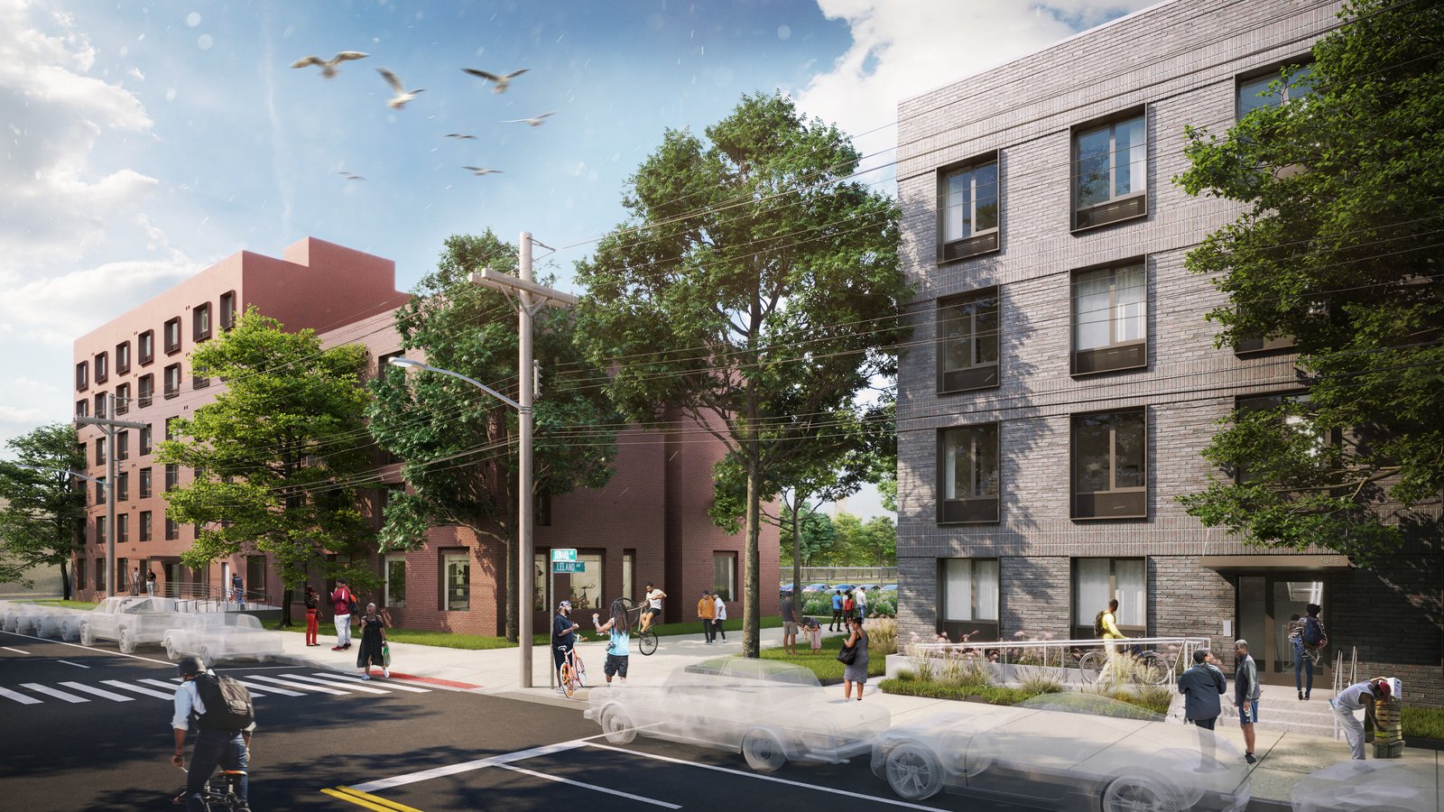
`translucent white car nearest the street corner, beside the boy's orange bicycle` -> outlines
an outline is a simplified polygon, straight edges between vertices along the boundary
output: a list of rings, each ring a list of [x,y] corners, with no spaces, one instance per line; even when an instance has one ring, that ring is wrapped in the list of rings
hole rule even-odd
[[[612,744],[640,733],[741,751],[762,773],[866,754],[891,721],[881,704],[845,701],[801,666],[745,657],[682,666],[660,686],[592,688],[586,718]]]

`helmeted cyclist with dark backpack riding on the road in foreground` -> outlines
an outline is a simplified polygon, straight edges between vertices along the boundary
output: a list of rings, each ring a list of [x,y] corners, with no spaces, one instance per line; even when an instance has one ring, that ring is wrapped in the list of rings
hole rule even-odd
[[[199,733],[195,737],[195,747],[191,753],[191,770],[185,782],[185,805],[189,812],[205,812],[205,783],[211,773],[219,766],[225,770],[245,770],[251,760],[251,734],[256,722],[241,730],[225,730],[212,727],[206,721],[206,707],[201,699],[196,678],[201,675],[215,676],[201,663],[201,657],[183,657],[176,669],[182,682],[176,688],[175,717],[170,727],[175,728],[176,751],[170,756],[170,763],[185,769],[185,737],[191,730],[192,720]],[[247,776],[243,773],[237,782],[235,795],[241,799],[241,809],[248,811],[245,795],[248,789]],[[178,799],[179,802],[179,799]]]

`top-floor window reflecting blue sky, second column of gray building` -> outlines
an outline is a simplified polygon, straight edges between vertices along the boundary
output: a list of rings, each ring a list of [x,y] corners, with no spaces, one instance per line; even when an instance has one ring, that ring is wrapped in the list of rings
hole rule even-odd
[[[1073,129],[1073,230],[1148,214],[1145,110]]]

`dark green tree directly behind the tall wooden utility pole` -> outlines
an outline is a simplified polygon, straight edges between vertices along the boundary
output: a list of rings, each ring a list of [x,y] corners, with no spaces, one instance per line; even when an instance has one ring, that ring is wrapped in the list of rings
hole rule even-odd
[[[516,380],[517,314],[504,293],[474,285],[472,270],[516,273],[517,250],[488,228],[446,240],[436,272],[397,311],[401,347],[429,364],[481,381]],[[615,426],[622,420],[598,380],[605,374],[576,348],[569,311],[543,308],[533,324],[542,386],[533,406],[537,494],[599,488],[611,478]],[[375,386],[371,433],[406,462],[410,493],[386,506],[381,546],[416,549],[430,527],[459,524],[484,545],[503,549],[504,633],[517,639],[517,459],[516,412],[451,376],[391,370]]]

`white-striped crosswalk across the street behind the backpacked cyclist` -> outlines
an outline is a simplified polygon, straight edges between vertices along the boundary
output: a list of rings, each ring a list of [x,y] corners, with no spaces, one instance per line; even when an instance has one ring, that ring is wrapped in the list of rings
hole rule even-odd
[[[276,673],[258,675],[247,673],[237,676],[237,682],[244,685],[253,699],[266,696],[351,696],[384,694],[429,694],[430,688],[404,685],[391,679],[373,679],[362,682],[360,675],[315,672],[315,673]],[[110,701],[134,702],[142,698],[172,701],[176,695],[179,679],[103,679],[95,685],[65,681],[53,685],[39,682],[20,682],[10,686],[0,685],[0,707],[17,702],[20,705],[43,705],[46,702],[66,702],[77,705],[81,702]]]

